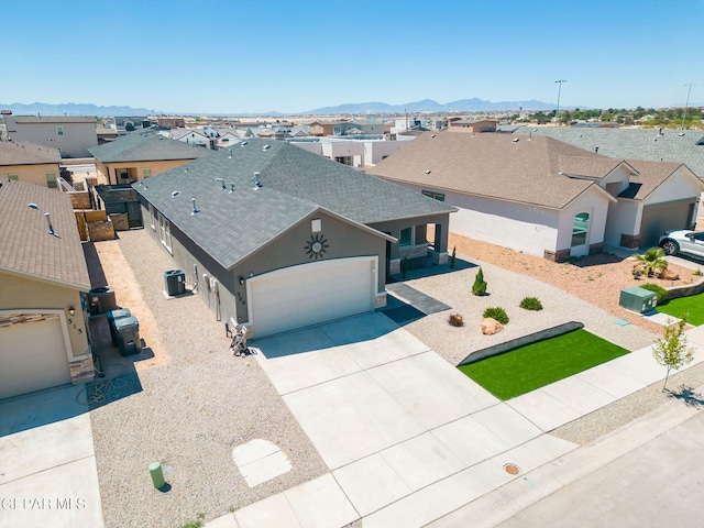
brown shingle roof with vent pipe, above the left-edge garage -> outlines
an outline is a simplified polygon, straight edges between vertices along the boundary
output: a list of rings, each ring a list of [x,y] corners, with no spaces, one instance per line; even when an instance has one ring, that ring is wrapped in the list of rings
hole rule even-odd
[[[0,187],[0,270],[90,289],[76,217],[65,193],[22,182]],[[36,204],[38,210],[28,207]],[[51,213],[58,237],[48,231]]]

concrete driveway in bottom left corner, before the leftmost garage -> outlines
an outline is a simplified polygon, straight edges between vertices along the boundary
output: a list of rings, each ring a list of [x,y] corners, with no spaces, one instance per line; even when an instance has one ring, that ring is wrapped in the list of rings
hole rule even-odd
[[[82,386],[0,402],[0,528],[103,526]]]

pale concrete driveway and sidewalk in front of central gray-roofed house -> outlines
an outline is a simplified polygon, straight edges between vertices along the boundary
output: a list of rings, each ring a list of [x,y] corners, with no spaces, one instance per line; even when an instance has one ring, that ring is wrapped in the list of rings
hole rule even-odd
[[[704,330],[689,337],[702,361]],[[645,349],[502,403],[381,314],[253,344],[331,473],[211,528],[421,527],[579,447],[546,431],[664,377]]]

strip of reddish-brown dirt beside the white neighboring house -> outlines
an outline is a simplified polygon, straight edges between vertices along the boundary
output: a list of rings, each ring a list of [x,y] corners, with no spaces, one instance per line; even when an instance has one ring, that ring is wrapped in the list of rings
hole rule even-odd
[[[646,283],[669,288],[704,280],[702,277],[693,275],[692,270],[674,264],[670,264],[668,270],[678,273],[679,280],[662,280],[656,277],[634,279],[631,274],[636,263],[634,258],[596,254],[559,264],[539,256],[450,233],[448,242],[450,254],[453,248],[457,248],[458,254],[494,264],[563,289],[582,300],[603,308],[616,318],[626,319],[653,333],[661,333],[662,327],[620,307],[618,305],[620,290]]]

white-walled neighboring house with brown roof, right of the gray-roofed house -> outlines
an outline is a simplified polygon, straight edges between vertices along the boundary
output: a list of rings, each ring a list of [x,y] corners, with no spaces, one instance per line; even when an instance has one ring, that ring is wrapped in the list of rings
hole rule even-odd
[[[424,134],[370,170],[455,206],[450,230],[549,260],[657,243],[695,218],[684,165],[601,156],[550,138]]]

